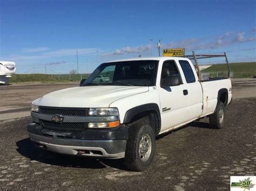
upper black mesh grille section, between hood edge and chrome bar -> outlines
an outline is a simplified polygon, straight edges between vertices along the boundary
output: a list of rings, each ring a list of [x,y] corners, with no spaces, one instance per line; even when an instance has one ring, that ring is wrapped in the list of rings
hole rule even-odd
[[[53,107],[39,107],[40,114],[48,115],[64,115],[64,116],[86,116],[87,108],[53,108]]]

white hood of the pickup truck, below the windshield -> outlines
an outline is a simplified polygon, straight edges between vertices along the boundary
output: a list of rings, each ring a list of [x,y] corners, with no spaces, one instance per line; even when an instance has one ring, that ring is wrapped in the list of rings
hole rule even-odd
[[[146,91],[149,91],[149,87],[82,86],[53,91],[35,100],[33,104],[67,108],[109,107],[114,101]]]

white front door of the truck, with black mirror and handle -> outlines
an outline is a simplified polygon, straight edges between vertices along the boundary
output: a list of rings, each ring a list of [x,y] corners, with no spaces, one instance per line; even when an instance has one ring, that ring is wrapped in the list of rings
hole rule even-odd
[[[179,77],[180,84],[172,87],[161,87],[163,80],[170,76]],[[186,89],[177,63],[174,60],[164,61],[161,68],[160,88],[158,88],[161,106],[161,132],[187,122],[186,107],[188,102],[186,101],[186,91],[184,91]]]

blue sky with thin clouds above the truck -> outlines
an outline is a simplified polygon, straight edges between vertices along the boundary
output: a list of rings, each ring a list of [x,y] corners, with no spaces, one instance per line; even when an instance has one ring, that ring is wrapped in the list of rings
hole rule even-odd
[[[151,45],[157,56],[158,39],[186,54],[256,61],[255,1],[1,0],[0,21],[0,60],[15,61],[17,73],[69,73],[76,48],[80,72],[91,72],[104,61],[151,56]]]

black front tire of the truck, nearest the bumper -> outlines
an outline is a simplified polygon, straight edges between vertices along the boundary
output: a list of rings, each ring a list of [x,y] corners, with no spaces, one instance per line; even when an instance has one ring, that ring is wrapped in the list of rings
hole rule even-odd
[[[151,152],[148,154],[148,158],[141,158],[140,155],[140,142],[143,139],[143,136],[149,137],[150,140],[147,140],[148,143],[151,141]],[[146,140],[146,139],[145,139]],[[154,131],[150,125],[143,124],[133,124],[129,128],[129,139],[126,143],[125,150],[125,165],[130,171],[145,171],[145,169],[149,168],[152,164],[154,158],[154,150],[155,150],[155,136]],[[150,148],[149,148],[150,149]],[[143,161],[145,160],[146,161]]]

